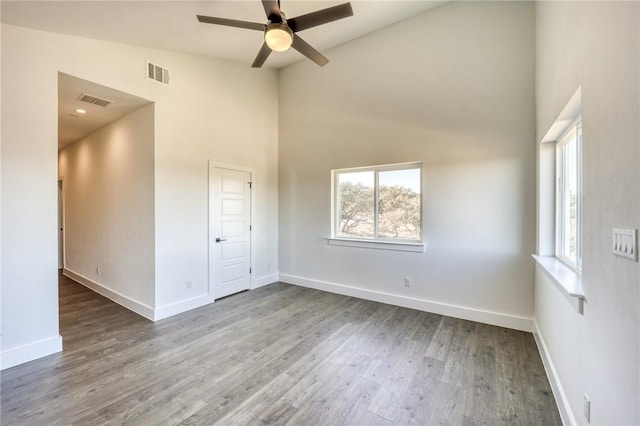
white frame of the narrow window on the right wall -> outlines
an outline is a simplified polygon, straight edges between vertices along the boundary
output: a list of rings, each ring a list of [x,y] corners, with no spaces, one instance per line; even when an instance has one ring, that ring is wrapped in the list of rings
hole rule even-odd
[[[565,256],[564,246],[565,235],[568,232],[564,227],[565,214],[565,147],[569,141],[576,139],[576,180],[577,180],[577,200],[576,200],[576,260]],[[558,138],[556,143],[556,258],[565,263],[577,272],[582,270],[582,117],[578,117],[565,132]]]

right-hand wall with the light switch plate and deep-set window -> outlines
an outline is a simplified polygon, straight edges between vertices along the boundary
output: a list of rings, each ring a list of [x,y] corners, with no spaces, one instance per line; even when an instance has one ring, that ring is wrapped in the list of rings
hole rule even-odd
[[[537,134],[582,88],[584,316],[536,273],[535,321],[566,401],[587,424],[640,424],[640,266],[612,228],[640,227],[640,3],[536,2]],[[563,401],[558,401],[562,404]]]

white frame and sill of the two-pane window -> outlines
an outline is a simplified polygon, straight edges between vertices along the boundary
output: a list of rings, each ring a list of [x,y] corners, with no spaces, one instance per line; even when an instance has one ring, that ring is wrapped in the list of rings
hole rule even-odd
[[[419,240],[405,240],[395,238],[379,238],[378,235],[378,201],[379,201],[379,188],[378,188],[378,175],[380,172],[418,169],[420,171],[420,238]],[[353,172],[373,172],[374,173],[374,237],[373,238],[351,238],[338,236],[337,227],[340,224],[338,206],[339,206],[339,193],[338,193],[338,175],[341,173],[353,173]],[[400,250],[400,251],[415,251],[424,252],[424,240],[423,240],[423,221],[422,221],[422,209],[423,209],[423,191],[422,191],[422,162],[411,163],[397,163],[397,164],[385,164],[378,166],[366,166],[366,167],[352,167],[345,169],[335,169],[331,171],[331,237],[329,237],[329,244],[350,246],[350,247],[367,247],[375,249],[388,249],[388,250]]]

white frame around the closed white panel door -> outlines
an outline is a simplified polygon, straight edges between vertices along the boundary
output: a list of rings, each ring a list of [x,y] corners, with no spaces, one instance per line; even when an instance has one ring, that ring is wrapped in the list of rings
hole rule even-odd
[[[251,268],[251,270],[255,270],[254,266],[253,266],[253,246],[255,244],[255,237],[254,237],[254,232],[253,232],[253,218],[255,217],[256,214],[256,202],[254,200],[254,192],[253,192],[253,186],[255,185],[256,181],[255,181],[255,170],[251,167],[245,167],[245,166],[238,166],[235,164],[229,164],[229,163],[224,163],[221,161],[215,161],[215,160],[209,160],[209,188],[208,188],[208,196],[209,196],[209,202],[208,202],[208,206],[209,206],[209,213],[208,213],[208,217],[209,217],[209,222],[207,224],[207,252],[208,252],[208,258],[209,258],[209,267],[207,268],[207,272],[208,272],[208,277],[207,277],[207,294],[208,294],[208,299],[209,299],[209,303],[212,303],[215,301],[216,299],[216,295],[215,295],[215,283],[213,282],[213,277],[214,274],[212,272],[213,267],[214,267],[214,259],[213,259],[213,250],[212,248],[212,243],[213,241],[211,240],[212,237],[212,231],[213,231],[213,223],[214,223],[214,208],[213,208],[213,202],[214,202],[214,185],[213,185],[213,176],[214,176],[214,171],[215,169],[226,169],[226,170],[234,170],[234,171],[238,171],[238,172],[244,172],[244,173],[249,173],[249,179],[251,181],[251,191],[249,193],[249,225],[251,226],[251,232],[249,233],[249,268]],[[249,274],[249,290],[253,290],[253,274]]]

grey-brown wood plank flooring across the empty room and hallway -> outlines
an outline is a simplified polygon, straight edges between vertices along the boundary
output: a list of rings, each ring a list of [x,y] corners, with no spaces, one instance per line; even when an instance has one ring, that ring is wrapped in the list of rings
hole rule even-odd
[[[278,283],[152,323],[60,279],[2,425],[560,425],[533,337]]]

